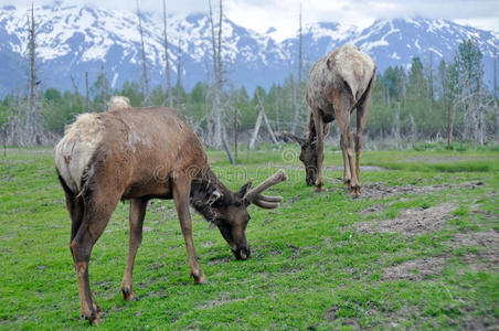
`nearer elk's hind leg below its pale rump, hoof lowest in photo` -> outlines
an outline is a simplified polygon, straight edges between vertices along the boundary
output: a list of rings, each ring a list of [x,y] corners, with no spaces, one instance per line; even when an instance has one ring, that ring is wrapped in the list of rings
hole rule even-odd
[[[109,195],[104,196],[109,199]],[[91,291],[88,261],[91,259],[92,249],[103,234],[104,228],[106,228],[118,201],[119,199],[109,199],[105,203],[93,203],[93,201],[89,200],[89,203],[85,204],[82,225],[70,244],[78,279],[82,316],[92,324],[97,324],[99,322],[103,312]]]

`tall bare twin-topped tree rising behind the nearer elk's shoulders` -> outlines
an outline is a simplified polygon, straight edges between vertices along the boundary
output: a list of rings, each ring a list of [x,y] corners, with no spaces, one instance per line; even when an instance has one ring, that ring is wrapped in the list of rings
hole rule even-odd
[[[223,94],[223,66],[222,66],[222,22],[223,22],[223,6],[222,0],[219,0],[219,31],[217,41],[215,41],[215,28],[213,22],[213,10],[211,0],[208,1],[210,7],[210,26],[212,35],[212,52],[213,52],[213,118],[214,118],[214,137],[213,143],[216,148],[222,146],[222,94]]]

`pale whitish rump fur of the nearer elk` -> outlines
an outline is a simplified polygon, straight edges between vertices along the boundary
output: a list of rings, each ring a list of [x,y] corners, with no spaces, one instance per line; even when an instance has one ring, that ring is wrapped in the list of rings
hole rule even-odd
[[[55,167],[73,192],[82,190],[83,172],[103,140],[104,130],[97,114],[79,115],[55,147]]]

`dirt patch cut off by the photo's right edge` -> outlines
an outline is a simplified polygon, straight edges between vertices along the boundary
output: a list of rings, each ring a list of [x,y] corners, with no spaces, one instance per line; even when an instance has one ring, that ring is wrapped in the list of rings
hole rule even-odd
[[[499,268],[499,233],[495,231],[458,233],[454,235],[448,246],[478,248],[478,252],[467,252],[461,257],[463,263],[474,271]]]

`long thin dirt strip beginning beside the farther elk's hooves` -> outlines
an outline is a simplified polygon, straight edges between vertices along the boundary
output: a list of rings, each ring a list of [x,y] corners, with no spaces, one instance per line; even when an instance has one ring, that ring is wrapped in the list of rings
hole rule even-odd
[[[362,185],[362,193],[359,197],[362,199],[384,199],[403,194],[426,194],[438,192],[447,189],[465,189],[477,188],[484,185],[484,182],[465,182],[458,184],[437,184],[437,185],[385,185],[383,183],[367,183]]]

